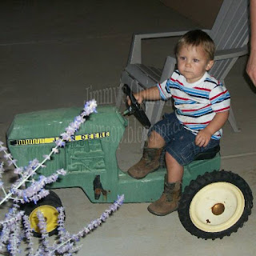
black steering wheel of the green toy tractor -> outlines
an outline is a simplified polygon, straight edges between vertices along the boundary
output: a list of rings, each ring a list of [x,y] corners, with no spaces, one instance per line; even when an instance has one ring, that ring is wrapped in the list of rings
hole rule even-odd
[[[142,126],[145,126],[146,129],[149,129],[151,126],[150,120],[147,118],[145,111],[142,110],[142,107],[138,104],[133,92],[130,90],[130,87],[124,85],[122,90],[130,98],[130,106],[124,114],[134,114],[138,119],[138,122],[140,122]]]

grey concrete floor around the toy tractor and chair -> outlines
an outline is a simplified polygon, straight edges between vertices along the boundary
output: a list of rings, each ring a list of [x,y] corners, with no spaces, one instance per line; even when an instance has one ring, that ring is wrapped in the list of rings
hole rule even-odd
[[[82,106],[95,95],[99,104],[114,104],[134,32],[190,30],[196,26],[156,0],[2,1],[0,140],[5,140],[14,114]],[[162,66],[173,46],[174,41],[150,40],[143,45],[143,60]],[[235,134],[228,123],[224,127],[222,168],[240,174],[255,194],[256,96],[244,76],[245,65],[246,57],[240,58],[226,78],[242,131]],[[103,88],[110,88],[111,99],[99,97],[97,92]],[[132,117],[130,126],[136,126]],[[138,144],[136,140],[123,140],[117,154],[122,170],[140,158]],[[70,233],[78,232],[107,208],[106,204],[89,202],[78,188],[57,193],[66,208]],[[78,255],[255,255],[255,208],[237,233],[205,241],[183,228],[177,212],[156,217],[146,210],[147,206],[123,205],[104,225],[82,239]]]

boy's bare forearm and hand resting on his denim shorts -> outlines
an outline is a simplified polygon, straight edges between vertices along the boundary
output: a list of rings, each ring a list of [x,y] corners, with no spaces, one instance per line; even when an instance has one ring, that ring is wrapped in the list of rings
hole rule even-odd
[[[215,114],[213,120],[206,126],[205,129],[200,130],[195,138],[195,144],[197,146],[207,146],[210,142],[210,138],[216,131],[220,130],[224,126],[227,118],[229,117],[229,111],[218,112]]]

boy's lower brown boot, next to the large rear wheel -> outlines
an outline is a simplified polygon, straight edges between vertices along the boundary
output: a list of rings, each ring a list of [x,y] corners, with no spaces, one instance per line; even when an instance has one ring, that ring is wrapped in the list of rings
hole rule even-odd
[[[181,198],[181,194],[181,182],[165,182],[164,191],[161,198],[159,198],[155,202],[152,202],[150,206],[148,206],[147,210],[149,210],[151,214],[155,214],[158,216],[165,216],[167,214],[170,214],[174,210],[178,209],[178,201]]]

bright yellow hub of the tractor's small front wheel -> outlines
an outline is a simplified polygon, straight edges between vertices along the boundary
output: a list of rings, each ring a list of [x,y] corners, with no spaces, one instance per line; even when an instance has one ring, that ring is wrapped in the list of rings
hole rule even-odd
[[[38,216],[37,212],[41,210],[45,221],[46,221],[46,231],[50,233],[51,231],[55,230],[58,226],[58,210],[54,206],[38,206],[35,208],[30,214],[30,226],[34,229],[35,232],[41,233],[38,227]]]

